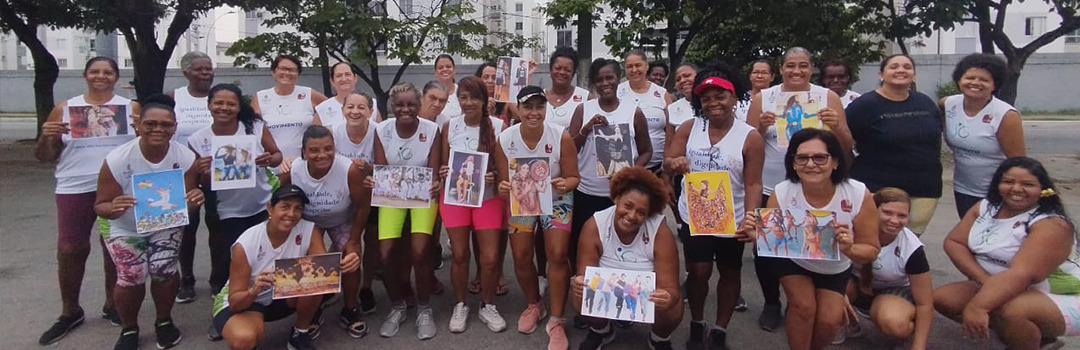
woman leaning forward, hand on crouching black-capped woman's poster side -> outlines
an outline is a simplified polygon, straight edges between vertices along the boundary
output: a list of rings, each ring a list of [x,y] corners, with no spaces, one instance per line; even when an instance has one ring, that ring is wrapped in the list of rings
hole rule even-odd
[[[363,253],[361,240],[372,203],[372,191],[364,188],[364,178],[370,171],[338,154],[334,133],[322,125],[308,126],[300,145],[303,153],[293,161],[291,172],[282,173],[281,183],[296,185],[311,200],[303,206],[303,219],[321,229],[318,235],[326,232],[330,252],[359,256]],[[348,197],[341,196],[345,193]],[[354,297],[359,287],[360,271],[341,274],[341,293],[346,297],[339,323],[356,339],[367,335],[367,324],[360,317]]]

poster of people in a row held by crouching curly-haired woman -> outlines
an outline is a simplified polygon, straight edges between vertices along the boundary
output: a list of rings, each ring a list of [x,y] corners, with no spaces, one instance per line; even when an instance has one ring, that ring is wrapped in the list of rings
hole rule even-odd
[[[649,295],[656,290],[656,272],[586,266],[581,314],[653,323],[657,305],[649,301]]]

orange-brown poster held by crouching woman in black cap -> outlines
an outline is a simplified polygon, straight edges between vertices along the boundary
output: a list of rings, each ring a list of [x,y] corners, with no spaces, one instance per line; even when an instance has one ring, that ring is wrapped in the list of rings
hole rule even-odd
[[[341,292],[341,253],[273,261],[273,298]]]

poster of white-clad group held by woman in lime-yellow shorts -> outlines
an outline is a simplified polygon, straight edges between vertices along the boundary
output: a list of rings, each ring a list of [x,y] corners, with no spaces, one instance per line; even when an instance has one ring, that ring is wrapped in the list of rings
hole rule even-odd
[[[431,167],[375,165],[372,205],[387,207],[431,206]]]

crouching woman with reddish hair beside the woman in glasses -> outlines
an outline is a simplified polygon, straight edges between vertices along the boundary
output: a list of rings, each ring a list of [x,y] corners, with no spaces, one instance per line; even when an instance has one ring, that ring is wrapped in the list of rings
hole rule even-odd
[[[848,299],[869,306],[870,321],[881,333],[908,340],[909,349],[926,349],[934,319],[930,262],[919,238],[907,226],[909,198],[886,187],[874,193],[881,251],[873,264],[855,267]],[[843,341],[841,332],[833,344]]]

